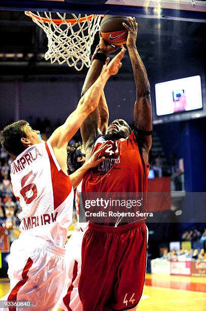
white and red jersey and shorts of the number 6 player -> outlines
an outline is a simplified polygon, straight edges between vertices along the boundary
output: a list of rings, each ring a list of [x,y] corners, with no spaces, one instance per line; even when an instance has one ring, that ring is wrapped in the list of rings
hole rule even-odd
[[[72,222],[73,189],[51,144],[24,150],[11,164],[12,191],[22,212],[21,234],[9,256],[10,292],[3,300],[29,300],[32,310],[50,311],[65,282],[65,240]],[[9,311],[23,311],[12,308]]]

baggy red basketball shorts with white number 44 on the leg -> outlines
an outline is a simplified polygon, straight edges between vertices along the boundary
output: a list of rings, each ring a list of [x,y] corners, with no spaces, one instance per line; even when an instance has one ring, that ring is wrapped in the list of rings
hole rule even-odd
[[[146,259],[145,223],[116,228],[90,223],[81,248],[78,285],[83,311],[135,307],[142,296]]]

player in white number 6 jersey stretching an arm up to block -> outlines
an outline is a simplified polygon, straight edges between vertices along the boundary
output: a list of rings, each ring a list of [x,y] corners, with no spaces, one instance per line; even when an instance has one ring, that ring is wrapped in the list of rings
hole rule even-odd
[[[47,142],[39,138],[24,120],[1,132],[1,143],[15,159],[11,165],[14,195],[20,200],[21,234],[11,246],[8,274],[10,292],[3,300],[30,301],[32,310],[51,310],[62,292],[65,277],[64,243],[72,220],[73,188],[84,173],[102,161],[93,159],[72,174],[67,174],[66,147],[85,118],[97,107],[111,75],[121,67],[122,49],[105,66],[97,83],[81,98],[77,108]],[[103,150],[102,150],[103,151]],[[24,310],[24,306],[12,307]]]

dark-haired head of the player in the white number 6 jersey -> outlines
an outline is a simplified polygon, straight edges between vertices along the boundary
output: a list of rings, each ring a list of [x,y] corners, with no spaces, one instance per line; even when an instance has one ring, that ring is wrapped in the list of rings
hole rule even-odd
[[[42,142],[39,133],[32,130],[27,121],[19,120],[1,131],[1,144],[13,158],[16,158],[26,148]]]

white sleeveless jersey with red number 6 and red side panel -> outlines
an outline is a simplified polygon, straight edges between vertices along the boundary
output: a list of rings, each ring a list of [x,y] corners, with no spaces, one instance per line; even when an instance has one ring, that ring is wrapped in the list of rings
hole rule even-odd
[[[25,149],[11,164],[11,188],[20,201],[21,235],[64,247],[72,222],[73,189],[49,141]]]

